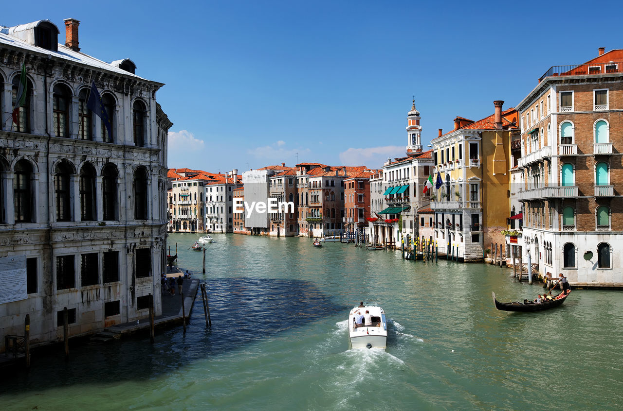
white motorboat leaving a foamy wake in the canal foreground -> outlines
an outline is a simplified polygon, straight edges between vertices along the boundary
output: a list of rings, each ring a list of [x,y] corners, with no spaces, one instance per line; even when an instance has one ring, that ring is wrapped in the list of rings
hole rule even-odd
[[[365,315],[366,311],[372,316],[371,325],[357,326],[355,317],[357,312]],[[385,348],[388,338],[388,324],[383,308],[376,305],[354,307],[348,314],[348,337],[353,348]]]

